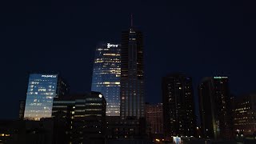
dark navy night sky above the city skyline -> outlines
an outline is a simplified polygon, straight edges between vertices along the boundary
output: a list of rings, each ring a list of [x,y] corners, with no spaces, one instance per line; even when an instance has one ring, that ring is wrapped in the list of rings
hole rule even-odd
[[[0,118],[18,118],[30,72],[60,72],[73,93],[90,91],[98,42],[144,33],[146,102],[161,102],[161,79],[230,77],[232,94],[256,90],[255,3],[238,0],[31,0],[0,3]],[[196,91],[195,91],[195,95]],[[198,102],[196,102],[198,103]]]

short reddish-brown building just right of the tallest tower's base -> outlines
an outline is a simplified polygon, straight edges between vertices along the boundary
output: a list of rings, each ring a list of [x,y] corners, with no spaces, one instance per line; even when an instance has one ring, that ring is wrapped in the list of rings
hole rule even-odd
[[[151,134],[163,134],[162,103],[146,104],[146,122],[150,124]]]

